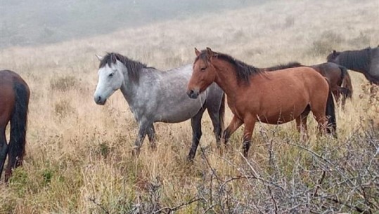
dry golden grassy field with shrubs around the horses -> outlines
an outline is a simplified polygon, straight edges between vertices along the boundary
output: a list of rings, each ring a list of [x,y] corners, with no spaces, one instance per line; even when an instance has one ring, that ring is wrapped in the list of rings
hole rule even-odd
[[[294,122],[259,124],[246,160],[242,128],[220,153],[206,116],[193,165],[188,121],[156,123],[158,149],[145,140],[140,156],[131,156],[138,128],[127,102],[117,92],[98,106],[93,93],[95,54],[170,69],[192,63],[194,47],[209,46],[256,67],[314,65],[333,49],[377,46],[378,20],[378,0],[270,1],[1,50],[0,68],[23,76],[32,94],[27,154],[8,185],[0,182],[0,213],[377,213],[379,97],[362,74],[350,72],[354,95],[336,109],[337,140],[318,138],[314,119],[307,142]]]

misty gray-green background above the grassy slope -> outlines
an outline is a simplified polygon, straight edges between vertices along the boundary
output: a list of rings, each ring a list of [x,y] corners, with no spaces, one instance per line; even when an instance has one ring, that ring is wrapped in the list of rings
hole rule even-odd
[[[51,44],[263,0],[0,0],[0,47]]]

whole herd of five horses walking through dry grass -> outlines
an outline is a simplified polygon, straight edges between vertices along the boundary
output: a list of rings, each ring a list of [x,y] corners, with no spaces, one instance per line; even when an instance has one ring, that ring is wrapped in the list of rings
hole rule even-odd
[[[192,161],[202,131],[201,119],[207,110],[214,127],[217,146],[228,142],[242,124],[243,154],[248,156],[255,123],[281,124],[295,119],[300,138],[307,138],[307,115],[312,112],[321,133],[336,135],[335,100],[352,97],[347,69],[361,72],[370,83],[379,84],[379,48],[359,51],[333,51],[326,63],[304,66],[298,62],[257,68],[230,55],[207,48],[198,51],[193,65],[162,72],[118,53],[101,57],[94,100],[104,105],[119,90],[139,123],[134,154],[148,135],[155,147],[153,123],[178,123],[191,119]],[[233,119],[224,130],[225,98]],[[27,109],[30,89],[15,72],[0,71],[0,176],[6,156],[5,181],[25,154]],[[11,123],[10,140],[6,126]]]

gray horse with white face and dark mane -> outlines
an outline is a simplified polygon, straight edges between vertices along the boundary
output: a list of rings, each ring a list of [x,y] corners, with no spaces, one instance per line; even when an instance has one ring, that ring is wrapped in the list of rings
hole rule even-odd
[[[202,135],[201,118],[205,109],[210,114],[219,145],[224,128],[224,92],[213,84],[198,99],[188,98],[186,86],[191,78],[192,65],[162,72],[119,53],[97,57],[101,62],[94,100],[98,105],[104,105],[110,95],[121,90],[139,123],[139,133],[134,142],[135,154],[139,153],[146,134],[150,146],[155,148],[153,123],[179,123],[191,119],[193,138],[188,160],[192,161]]]

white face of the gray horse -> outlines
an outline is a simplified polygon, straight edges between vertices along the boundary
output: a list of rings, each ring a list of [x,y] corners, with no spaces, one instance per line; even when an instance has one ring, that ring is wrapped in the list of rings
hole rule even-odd
[[[106,100],[117,91],[124,81],[122,69],[124,65],[120,61],[115,64],[105,65],[98,69],[98,83],[94,93],[94,100],[98,105],[104,105]]]

